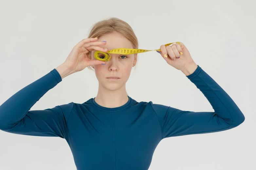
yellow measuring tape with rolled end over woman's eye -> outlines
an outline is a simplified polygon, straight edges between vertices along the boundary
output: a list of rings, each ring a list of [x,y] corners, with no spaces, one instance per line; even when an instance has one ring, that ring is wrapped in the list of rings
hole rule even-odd
[[[180,45],[180,42],[174,42],[174,43],[178,43]],[[170,44],[173,44],[173,43],[165,44],[165,46],[169,46]],[[119,49],[109,50],[108,52],[96,51],[94,53],[94,57],[97,60],[109,61],[110,58],[111,58],[109,54],[136,54],[136,53],[147,52],[147,51],[161,51],[161,50],[160,49],[157,49],[157,50],[142,50],[142,49],[124,49],[124,48],[119,48]],[[99,53],[104,54],[105,58],[103,58],[103,59],[100,58],[103,55],[99,56]]]

